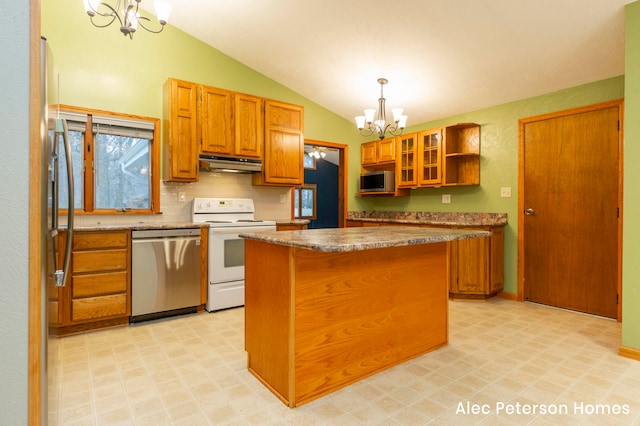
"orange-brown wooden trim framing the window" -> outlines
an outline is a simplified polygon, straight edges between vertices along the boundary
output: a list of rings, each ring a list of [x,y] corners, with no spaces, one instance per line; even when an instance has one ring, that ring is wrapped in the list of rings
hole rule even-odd
[[[100,214],[100,215],[123,215],[123,214],[156,214],[161,213],[160,210],[160,119],[153,117],[145,117],[133,114],[124,114],[119,112],[104,111],[92,108],[75,107],[71,105],[53,105],[54,111],[77,113],[87,116],[86,129],[84,133],[84,207],[76,208],[76,214]],[[153,139],[151,140],[151,191],[148,209],[131,209],[127,211],[117,211],[115,209],[95,209],[95,173],[94,173],[94,135],[93,135],[93,116],[105,118],[113,118],[118,120],[137,120],[153,123]],[[143,124],[143,127],[145,125]]]

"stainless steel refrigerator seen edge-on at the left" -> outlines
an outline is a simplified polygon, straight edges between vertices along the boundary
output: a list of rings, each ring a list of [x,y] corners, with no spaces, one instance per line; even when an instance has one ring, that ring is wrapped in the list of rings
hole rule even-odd
[[[64,286],[71,260],[71,245],[73,243],[73,211],[74,186],[71,146],[65,120],[56,115],[51,103],[58,103],[58,75],[50,46],[45,38],[40,42],[41,54],[41,105],[40,105],[40,182],[41,182],[41,250],[40,250],[40,302],[41,302],[41,424],[56,424],[55,417],[49,418],[49,408],[56,410],[49,403],[50,361],[49,354],[49,307],[57,303],[54,292]],[[61,167],[63,165],[63,167]],[[64,167],[66,166],[66,167]],[[66,231],[67,238],[64,247],[58,247],[60,224],[60,182],[65,182],[67,194]],[[64,254],[58,253],[63,251]],[[54,310],[52,309],[52,312]],[[57,395],[55,395],[57,397]]]

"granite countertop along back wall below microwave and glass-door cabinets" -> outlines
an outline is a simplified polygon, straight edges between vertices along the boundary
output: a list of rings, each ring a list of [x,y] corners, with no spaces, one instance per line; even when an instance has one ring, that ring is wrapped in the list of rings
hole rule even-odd
[[[347,220],[447,226],[504,226],[506,213],[350,211]]]

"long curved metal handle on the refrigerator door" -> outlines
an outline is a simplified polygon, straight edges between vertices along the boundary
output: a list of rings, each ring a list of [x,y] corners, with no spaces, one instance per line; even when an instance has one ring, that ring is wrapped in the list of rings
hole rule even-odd
[[[57,144],[58,135],[62,135],[63,143],[64,143],[64,153],[67,162],[67,182],[69,184],[69,201],[68,201],[68,213],[67,213],[67,238],[65,241],[65,249],[64,249],[64,260],[62,261],[62,269],[57,269],[54,272],[55,278],[55,286],[56,287],[64,287],[67,282],[67,275],[69,273],[69,263],[71,261],[71,244],[73,242],[73,219],[74,219],[74,187],[73,187],[73,163],[71,157],[71,142],[69,141],[69,131],[67,129],[67,121],[61,118],[57,118],[55,120],[55,135],[54,145]],[[55,156],[54,156],[55,157]],[[57,182],[54,185],[57,186]],[[57,191],[56,191],[57,192]],[[58,217],[58,206],[57,206],[57,198],[58,194],[54,194],[54,205],[53,209],[54,220],[53,222],[57,224]],[[57,227],[56,227],[57,228]],[[54,250],[55,257],[55,250]],[[55,262],[55,258],[54,258]],[[55,264],[55,263],[54,263]]]

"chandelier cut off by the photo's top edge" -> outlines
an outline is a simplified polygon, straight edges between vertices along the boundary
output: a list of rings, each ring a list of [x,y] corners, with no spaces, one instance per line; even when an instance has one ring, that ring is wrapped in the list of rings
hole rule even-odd
[[[133,39],[133,33],[138,29],[138,25],[150,33],[159,33],[164,29],[164,26],[169,20],[169,13],[171,12],[171,5],[163,0],[156,0],[154,3],[156,8],[156,15],[158,16],[158,23],[160,23],[159,30],[152,30],[147,28],[144,22],[151,22],[151,20],[145,16],[140,15],[138,7],[142,0],[116,0],[115,6],[111,6],[102,0],[83,0],[84,10],[91,18],[91,23],[98,27],[104,28],[113,24],[116,20],[120,23],[120,31],[125,36]],[[98,9],[102,9],[99,11]],[[120,15],[122,13],[122,15]]]

